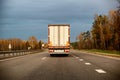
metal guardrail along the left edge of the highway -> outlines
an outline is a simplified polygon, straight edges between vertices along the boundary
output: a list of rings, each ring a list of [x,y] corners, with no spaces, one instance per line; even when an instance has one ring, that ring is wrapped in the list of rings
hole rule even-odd
[[[0,59],[14,57],[14,56],[22,56],[35,52],[40,52],[42,50],[16,50],[16,51],[0,51]]]

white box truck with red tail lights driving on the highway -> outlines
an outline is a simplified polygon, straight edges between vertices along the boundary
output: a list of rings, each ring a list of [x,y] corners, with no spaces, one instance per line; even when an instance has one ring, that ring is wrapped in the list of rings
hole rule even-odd
[[[70,25],[49,24],[48,25],[48,51],[53,54],[70,53]]]

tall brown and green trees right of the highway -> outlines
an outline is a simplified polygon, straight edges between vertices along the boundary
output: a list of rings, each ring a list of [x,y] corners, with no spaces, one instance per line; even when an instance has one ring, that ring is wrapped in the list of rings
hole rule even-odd
[[[91,31],[77,37],[79,49],[120,50],[120,9],[96,15]]]

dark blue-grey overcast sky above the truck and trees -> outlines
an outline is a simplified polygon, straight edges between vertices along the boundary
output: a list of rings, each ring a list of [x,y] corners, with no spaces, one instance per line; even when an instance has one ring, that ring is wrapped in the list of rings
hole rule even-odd
[[[116,0],[0,0],[0,39],[47,41],[48,24],[70,24],[73,42],[91,29],[95,14],[117,6]]]

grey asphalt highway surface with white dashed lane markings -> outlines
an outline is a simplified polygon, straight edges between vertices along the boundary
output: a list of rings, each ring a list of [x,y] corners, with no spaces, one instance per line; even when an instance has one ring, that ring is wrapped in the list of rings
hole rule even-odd
[[[47,51],[0,60],[0,80],[120,80],[120,59],[72,50]]]

